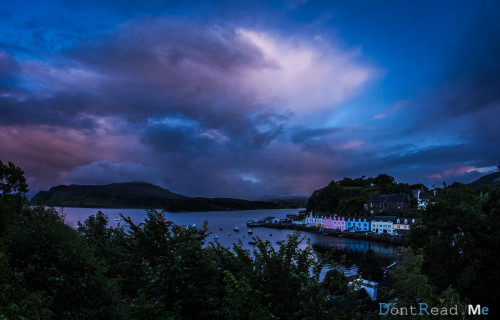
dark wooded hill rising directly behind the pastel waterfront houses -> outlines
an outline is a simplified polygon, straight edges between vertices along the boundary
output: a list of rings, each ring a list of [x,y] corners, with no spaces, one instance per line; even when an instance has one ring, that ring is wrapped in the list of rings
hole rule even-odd
[[[394,177],[379,174],[375,178],[344,178],[332,181],[328,186],[313,192],[307,202],[307,211],[335,213],[339,215],[359,215],[365,212],[364,204],[371,194],[408,193],[412,190],[428,188],[421,184],[396,183]],[[414,202],[413,207],[417,203]]]

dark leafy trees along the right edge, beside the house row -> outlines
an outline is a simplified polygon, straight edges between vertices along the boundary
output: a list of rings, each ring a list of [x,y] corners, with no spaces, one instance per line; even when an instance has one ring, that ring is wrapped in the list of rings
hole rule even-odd
[[[407,261],[394,276],[397,304],[430,305],[447,297],[488,307],[498,319],[499,228],[500,186],[488,194],[456,182],[439,189],[408,234]]]

